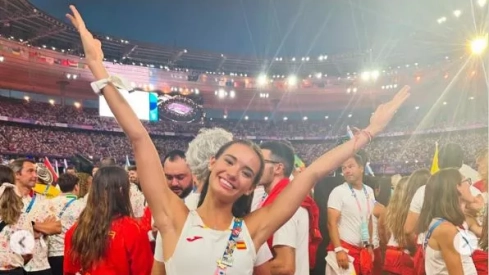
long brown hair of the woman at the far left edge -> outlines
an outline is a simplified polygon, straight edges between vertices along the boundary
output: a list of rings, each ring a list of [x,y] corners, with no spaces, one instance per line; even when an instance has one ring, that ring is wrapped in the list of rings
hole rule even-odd
[[[0,165],[0,186],[3,183],[15,184],[15,174],[10,167]],[[15,224],[22,214],[24,204],[14,188],[6,188],[0,198],[0,219],[6,224]]]

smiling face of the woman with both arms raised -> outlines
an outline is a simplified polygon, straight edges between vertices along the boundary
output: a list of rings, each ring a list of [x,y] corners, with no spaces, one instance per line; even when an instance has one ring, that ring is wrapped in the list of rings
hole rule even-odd
[[[249,145],[234,143],[210,161],[209,189],[224,202],[249,195],[261,173],[261,157]]]

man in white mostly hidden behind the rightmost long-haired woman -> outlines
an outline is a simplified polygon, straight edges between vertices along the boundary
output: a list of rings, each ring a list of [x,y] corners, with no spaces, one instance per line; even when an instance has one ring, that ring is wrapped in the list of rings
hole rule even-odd
[[[460,173],[464,178],[470,178],[471,182],[478,180],[479,176],[474,175],[472,168],[463,164],[464,153],[462,147],[455,143],[449,143],[440,149],[438,154],[438,166],[440,169],[444,168],[456,168],[459,169]],[[477,172],[475,172],[477,174]],[[404,234],[408,237],[408,240],[413,240],[416,234],[416,227],[418,224],[419,213],[421,213],[421,208],[423,208],[424,203],[424,193],[426,186],[423,185],[414,194],[411,200],[411,205],[409,207],[408,216],[406,222],[404,223]],[[470,186],[470,192],[474,196],[474,201],[467,207],[469,209],[480,209],[484,206],[484,198],[482,193],[475,187]],[[418,234],[417,244],[420,245],[423,240],[423,234]]]

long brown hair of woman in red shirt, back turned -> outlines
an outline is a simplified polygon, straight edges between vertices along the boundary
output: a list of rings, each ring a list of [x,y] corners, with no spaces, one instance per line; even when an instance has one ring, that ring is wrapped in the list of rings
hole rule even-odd
[[[72,260],[80,262],[82,270],[89,270],[106,255],[112,221],[124,216],[133,216],[127,172],[117,166],[101,167],[72,238]]]

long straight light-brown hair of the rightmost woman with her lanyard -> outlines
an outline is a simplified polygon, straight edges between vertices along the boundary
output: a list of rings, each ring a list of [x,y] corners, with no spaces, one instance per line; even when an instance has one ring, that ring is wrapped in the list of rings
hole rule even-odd
[[[418,234],[428,231],[434,218],[443,218],[455,226],[464,223],[465,214],[460,206],[457,189],[461,183],[462,175],[454,168],[442,169],[430,177],[419,214]]]

